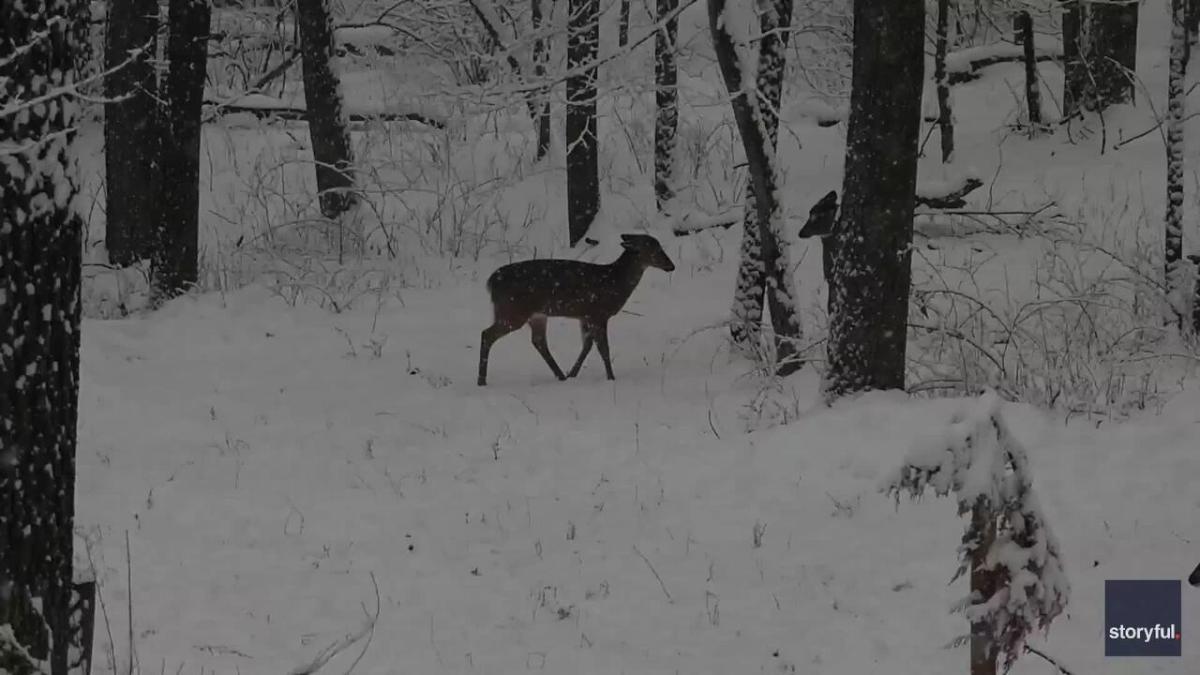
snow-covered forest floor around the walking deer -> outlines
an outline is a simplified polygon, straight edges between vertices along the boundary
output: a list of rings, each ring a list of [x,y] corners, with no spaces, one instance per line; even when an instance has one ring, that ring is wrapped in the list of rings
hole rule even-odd
[[[1144,10],[1139,67],[1159,92],[1158,110],[1165,31],[1152,31],[1162,26],[1158,10]],[[943,172],[926,157],[923,183],[971,173],[986,184],[972,204],[1052,201],[1098,232],[1111,228],[1105,237],[1160,222],[1158,135],[1111,148],[1153,125],[1145,101],[1111,110],[1104,154],[1097,120],[1086,138],[1060,130],[1027,141],[1002,127],[1019,109],[1004,82],[1020,83],[1020,68],[992,66],[955,88],[962,168]],[[1042,68],[1044,91],[1057,94],[1057,67]],[[682,82],[684,144],[701,150],[680,153],[703,157],[730,138],[719,124],[727,106],[708,104],[715,80],[694,72]],[[347,88],[352,98],[379,90]],[[625,112],[606,103],[601,136],[624,145],[602,156],[601,245],[586,256],[610,258],[617,232],[648,225],[677,270],[649,270],[613,319],[616,382],[595,354],[578,378],[554,381],[522,330],[492,351],[488,387],[474,383],[479,331],[491,319],[482,280],[510,255],[564,250],[562,172],[526,165],[463,216],[498,225],[457,233],[461,249],[443,249],[454,237],[428,225],[449,217],[436,195],[389,196],[378,219],[396,226],[404,247],[392,268],[372,270],[389,283],[344,311],[317,306],[329,297],[306,286],[314,276],[268,288],[214,273],[211,293],[154,315],[85,322],[77,503],[90,551],[80,545],[80,557],[91,556],[103,597],[97,671],[128,668],[128,608],[143,673],[288,671],[376,613],[359,674],[966,670],[966,651],[944,649],[966,631],[948,613],[965,581],[947,584],[965,524],[950,500],[896,508],[878,491],[910,444],[964,402],[874,394],[829,410],[812,369],[775,388],[730,356],[719,323],[739,228],[676,239],[647,215],[650,181],[629,149],[644,149],[649,100]],[[793,123],[781,133],[793,214],[840,190],[844,127],[817,126],[809,109],[784,110]],[[528,124],[492,123],[463,123],[464,133],[488,136],[451,150],[474,172],[454,180],[517,172],[506,153],[528,148]],[[280,178],[277,192],[250,192],[263,184],[248,181],[247,166],[276,171],[278,155],[300,165],[307,151],[295,130],[268,133],[230,126],[205,136],[210,261],[232,259],[228,241],[262,237],[311,190]],[[276,143],[289,133],[294,145]],[[395,147],[372,144],[370,133],[356,139],[373,150],[380,184],[437,181],[414,178],[410,165],[440,147],[404,154],[426,132],[396,127]],[[392,153],[395,166],[380,160]],[[550,166],[560,169],[558,153]],[[709,154],[686,195],[718,213],[715,195],[736,199],[740,174]],[[1014,287],[1036,257],[1036,243],[1012,235],[919,243],[923,259],[947,246],[998,252],[989,264]],[[793,250],[797,282],[820,315],[811,310],[823,297],[820,251],[806,246]],[[995,271],[985,281],[1000,279]],[[810,333],[820,338],[815,325]],[[571,363],[577,329],[552,322],[550,339],[558,360]],[[1200,591],[1187,587],[1183,658],[1104,658],[1104,580],[1177,579],[1200,561],[1200,383],[1180,362],[1164,363],[1175,370],[1163,395],[1123,420],[1006,408],[1072,585],[1067,613],[1033,644],[1078,675],[1196,671],[1200,643],[1188,627]],[[329,668],[346,671],[360,649]],[[1013,673],[1054,669],[1026,656]]]

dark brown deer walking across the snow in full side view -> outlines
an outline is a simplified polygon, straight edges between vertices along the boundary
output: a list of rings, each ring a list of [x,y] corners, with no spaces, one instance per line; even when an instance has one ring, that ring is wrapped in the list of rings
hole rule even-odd
[[[554,377],[566,380],[578,375],[595,344],[605,374],[616,380],[608,358],[608,319],[625,306],[647,268],[674,270],[659,240],[649,234],[622,234],[620,245],[625,250],[608,264],[539,259],[506,264],[493,271],[487,277],[493,318],[480,336],[479,386],[487,384],[487,354],[492,345],[526,323],[533,333],[534,348]],[[583,329],[583,351],[570,375],[563,375],[546,342],[546,319],[552,316],[577,318]]]

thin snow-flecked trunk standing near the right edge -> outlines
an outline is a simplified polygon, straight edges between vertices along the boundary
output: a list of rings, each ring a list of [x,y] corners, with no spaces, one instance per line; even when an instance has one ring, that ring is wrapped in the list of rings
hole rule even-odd
[[[1187,70],[1187,0],[1171,0],[1170,70],[1166,80],[1166,219],[1164,243],[1164,275],[1175,312],[1176,325],[1189,316],[1192,270],[1183,263],[1183,120],[1187,117],[1187,94],[1183,79]]]

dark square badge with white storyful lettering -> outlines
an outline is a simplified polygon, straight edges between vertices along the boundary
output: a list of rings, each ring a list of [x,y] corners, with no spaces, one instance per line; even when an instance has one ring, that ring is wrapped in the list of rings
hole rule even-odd
[[[1182,656],[1177,579],[1104,581],[1104,656]]]

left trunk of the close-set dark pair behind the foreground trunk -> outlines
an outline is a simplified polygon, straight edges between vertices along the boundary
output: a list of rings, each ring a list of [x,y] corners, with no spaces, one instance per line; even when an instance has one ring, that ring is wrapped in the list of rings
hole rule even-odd
[[[158,221],[157,0],[112,0],[104,34],[104,245],[108,261],[149,257]],[[140,50],[131,56],[131,52]],[[120,67],[122,66],[124,67]],[[122,96],[127,98],[118,100]]]

